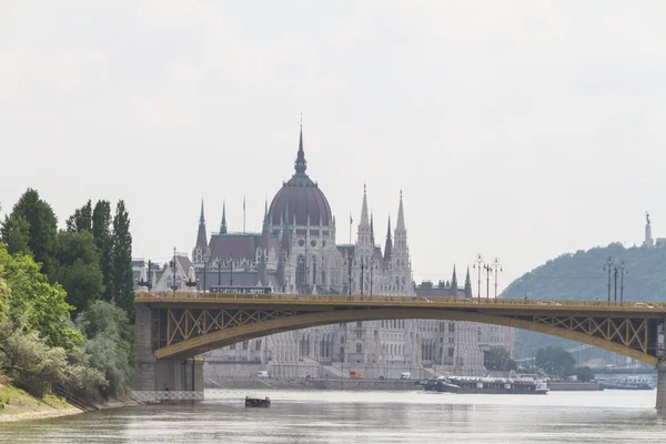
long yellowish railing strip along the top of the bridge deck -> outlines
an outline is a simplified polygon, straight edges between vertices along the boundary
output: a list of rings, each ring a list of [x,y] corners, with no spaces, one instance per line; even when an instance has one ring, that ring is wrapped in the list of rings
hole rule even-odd
[[[137,302],[157,301],[201,301],[201,302],[240,302],[240,303],[283,303],[283,304],[390,304],[423,306],[529,306],[539,309],[555,307],[616,307],[648,311],[666,310],[665,302],[608,302],[582,300],[533,300],[533,299],[477,299],[477,297],[426,297],[403,295],[340,295],[340,294],[290,294],[290,293],[203,293],[203,292],[141,292],[137,293]]]

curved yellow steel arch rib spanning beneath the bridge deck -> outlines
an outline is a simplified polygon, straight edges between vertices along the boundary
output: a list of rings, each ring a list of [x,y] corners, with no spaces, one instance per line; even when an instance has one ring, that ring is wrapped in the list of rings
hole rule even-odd
[[[644,363],[656,365],[658,359],[640,350],[633,349],[618,342],[565,329],[558,325],[537,323],[515,316],[494,315],[473,311],[432,310],[432,309],[356,309],[340,311],[323,311],[313,313],[294,314],[291,316],[262,320],[239,326],[221,329],[199,336],[158,349],[154,356],[162,359],[188,359],[238,342],[262,337],[275,333],[307,329],[313,326],[335,323],[362,321],[398,321],[404,319],[470,321],[485,324],[504,325],[522,330],[529,330],[553,336],[589,344],[614,353],[633,357]],[[628,332],[627,326],[627,332]],[[628,333],[627,333],[628,334]],[[637,333],[636,333],[637,334]],[[629,341],[630,342],[630,341]]]

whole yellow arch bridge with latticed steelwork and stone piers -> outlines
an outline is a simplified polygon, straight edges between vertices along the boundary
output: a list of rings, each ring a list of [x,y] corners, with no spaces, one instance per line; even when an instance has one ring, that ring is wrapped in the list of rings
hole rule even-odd
[[[188,370],[189,359],[254,337],[343,322],[426,319],[529,330],[655,365],[657,407],[666,407],[666,303],[662,302],[138,292],[135,307],[134,387],[139,391],[160,391],[165,385],[196,389],[196,381],[203,379],[194,360]]]

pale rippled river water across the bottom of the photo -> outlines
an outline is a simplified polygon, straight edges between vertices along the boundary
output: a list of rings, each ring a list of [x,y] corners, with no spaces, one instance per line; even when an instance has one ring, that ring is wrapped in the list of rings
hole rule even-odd
[[[205,401],[139,405],[0,424],[11,443],[657,443],[655,391],[463,395],[222,391]],[[245,395],[270,408],[245,408]]]

